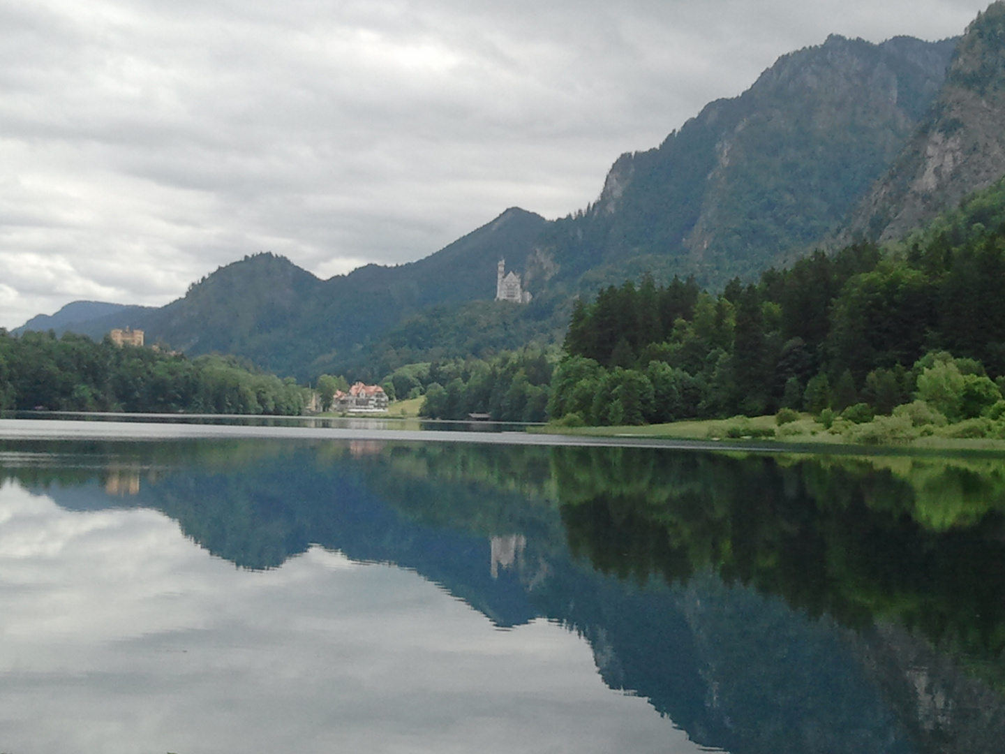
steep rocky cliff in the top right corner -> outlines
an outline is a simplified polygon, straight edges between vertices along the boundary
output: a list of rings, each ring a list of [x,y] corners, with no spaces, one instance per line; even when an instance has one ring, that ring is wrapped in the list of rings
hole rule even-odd
[[[968,27],[919,132],[838,236],[890,240],[1005,175],[1005,2]]]

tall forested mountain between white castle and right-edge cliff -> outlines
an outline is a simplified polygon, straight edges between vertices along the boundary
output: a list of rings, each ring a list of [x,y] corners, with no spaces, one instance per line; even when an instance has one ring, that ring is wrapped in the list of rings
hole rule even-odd
[[[658,148],[622,155],[542,247],[563,277],[639,256],[713,286],[755,274],[837,229],[926,117],[954,43],[831,36],[784,55]]]

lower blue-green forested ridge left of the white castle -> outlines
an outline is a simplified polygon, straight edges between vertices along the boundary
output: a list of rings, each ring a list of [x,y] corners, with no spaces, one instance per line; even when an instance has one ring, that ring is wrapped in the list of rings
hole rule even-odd
[[[436,253],[394,267],[369,264],[321,280],[269,253],[221,267],[183,299],[137,318],[148,343],[191,355],[237,354],[310,379],[354,361],[403,320],[435,304],[492,299],[500,257],[524,268],[546,220],[509,209]]]

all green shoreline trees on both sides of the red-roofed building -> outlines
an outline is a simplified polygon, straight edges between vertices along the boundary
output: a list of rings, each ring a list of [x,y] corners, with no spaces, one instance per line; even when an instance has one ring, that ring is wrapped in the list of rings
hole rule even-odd
[[[324,394],[345,384],[317,380]],[[576,301],[562,348],[408,364],[380,384],[435,419],[1005,438],[1005,182],[896,244],[817,251],[718,294],[644,275]],[[314,394],[233,357],[0,332],[4,409],[298,414]],[[744,418],[766,415],[774,421]]]

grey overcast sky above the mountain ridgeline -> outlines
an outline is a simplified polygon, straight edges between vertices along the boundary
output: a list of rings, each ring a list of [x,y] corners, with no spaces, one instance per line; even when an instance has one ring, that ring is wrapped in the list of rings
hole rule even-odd
[[[0,0],[0,327],[319,276],[553,218],[781,54],[963,31],[969,0]]]

